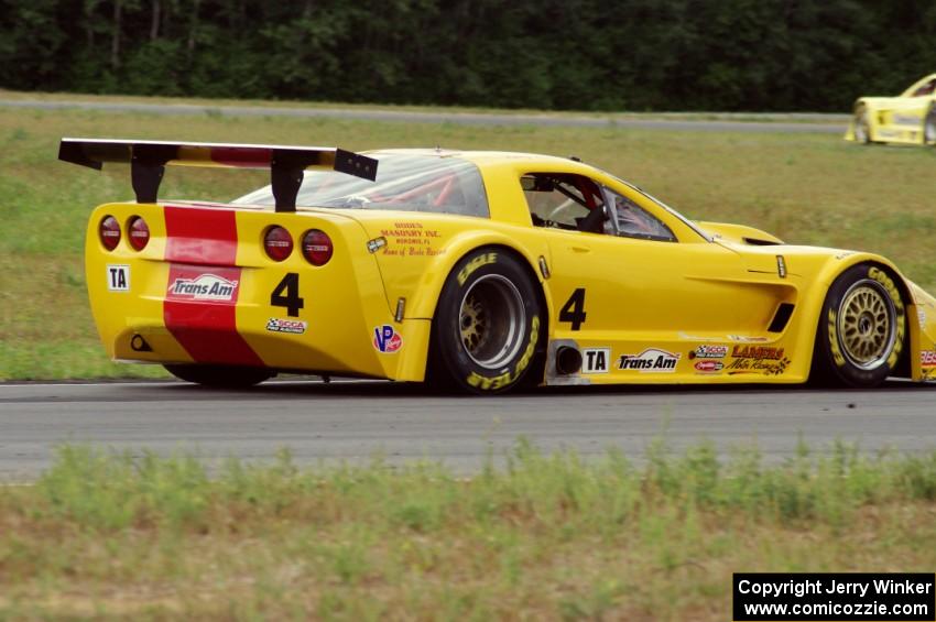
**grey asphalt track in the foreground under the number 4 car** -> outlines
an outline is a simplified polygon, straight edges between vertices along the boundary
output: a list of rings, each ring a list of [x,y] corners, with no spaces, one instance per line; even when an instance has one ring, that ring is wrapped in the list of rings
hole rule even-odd
[[[769,462],[836,439],[863,450],[936,449],[936,385],[873,391],[803,388],[570,388],[494,397],[425,395],[390,382],[269,382],[213,391],[182,382],[0,384],[0,480],[35,478],[62,443],[118,450],[187,449],[213,461],[272,459],[390,463],[428,458],[460,473],[499,461],[520,437],[544,450],[635,459],[665,435],[679,449],[701,439],[722,454],[757,443]]]

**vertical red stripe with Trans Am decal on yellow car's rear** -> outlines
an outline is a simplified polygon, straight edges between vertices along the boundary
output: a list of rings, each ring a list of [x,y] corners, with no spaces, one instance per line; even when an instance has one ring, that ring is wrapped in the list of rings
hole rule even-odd
[[[241,269],[230,209],[166,207],[166,261],[172,262],[163,321],[197,363],[263,367],[237,331]]]

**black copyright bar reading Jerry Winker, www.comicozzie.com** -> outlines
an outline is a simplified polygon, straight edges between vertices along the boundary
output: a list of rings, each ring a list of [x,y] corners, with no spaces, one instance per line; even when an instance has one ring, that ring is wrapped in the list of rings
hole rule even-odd
[[[736,622],[936,621],[933,572],[736,572]]]

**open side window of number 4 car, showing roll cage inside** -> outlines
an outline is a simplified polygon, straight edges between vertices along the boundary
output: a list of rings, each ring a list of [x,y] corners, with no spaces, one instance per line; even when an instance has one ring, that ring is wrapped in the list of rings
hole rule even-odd
[[[520,179],[535,227],[613,233],[594,181],[568,173],[530,173]]]

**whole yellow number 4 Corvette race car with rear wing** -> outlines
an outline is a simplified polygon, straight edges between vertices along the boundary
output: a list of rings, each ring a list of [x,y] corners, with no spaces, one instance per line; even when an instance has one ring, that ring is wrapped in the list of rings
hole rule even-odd
[[[184,380],[277,372],[519,385],[936,378],[936,299],[889,260],[694,222],[579,162],[63,139],[130,163],[94,210],[108,354]],[[230,204],[159,200],[166,165],[269,168]]]

